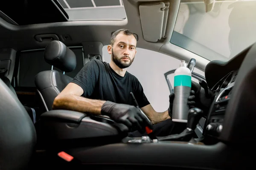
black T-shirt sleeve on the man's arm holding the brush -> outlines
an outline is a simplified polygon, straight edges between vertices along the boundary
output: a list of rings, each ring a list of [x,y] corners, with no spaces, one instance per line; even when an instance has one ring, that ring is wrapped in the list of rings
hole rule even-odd
[[[91,60],[84,65],[71,82],[79,85],[84,90],[82,96],[89,97],[93,94],[98,77],[99,66],[96,61]]]

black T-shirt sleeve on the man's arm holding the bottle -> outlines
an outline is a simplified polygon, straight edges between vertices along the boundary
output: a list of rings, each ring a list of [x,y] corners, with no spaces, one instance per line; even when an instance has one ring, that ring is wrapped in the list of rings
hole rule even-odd
[[[146,105],[149,105],[150,102],[148,101],[147,97],[144,94],[143,87],[140,84],[138,79],[135,79],[135,91],[134,96],[138,102],[140,108],[143,108]]]

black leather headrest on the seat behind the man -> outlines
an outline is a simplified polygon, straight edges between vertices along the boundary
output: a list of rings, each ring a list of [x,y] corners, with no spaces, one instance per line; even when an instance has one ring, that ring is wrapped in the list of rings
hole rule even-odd
[[[71,72],[76,68],[76,55],[58,40],[54,40],[46,46],[44,59],[61,71]]]

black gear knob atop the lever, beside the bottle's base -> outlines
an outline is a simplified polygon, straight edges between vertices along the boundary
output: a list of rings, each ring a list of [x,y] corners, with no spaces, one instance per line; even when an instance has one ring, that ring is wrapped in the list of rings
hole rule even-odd
[[[200,108],[189,109],[187,128],[195,130],[195,127],[202,116],[203,111]]]

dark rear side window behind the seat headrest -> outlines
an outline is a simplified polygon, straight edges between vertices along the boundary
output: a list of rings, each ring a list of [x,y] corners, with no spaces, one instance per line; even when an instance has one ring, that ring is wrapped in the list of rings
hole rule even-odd
[[[76,69],[65,73],[75,77],[83,67],[82,48],[70,48],[76,54]],[[60,71],[58,68],[53,68]],[[41,71],[51,70],[51,65],[44,61],[44,50],[20,52],[20,65],[18,69],[18,87],[35,87],[35,75]]]

